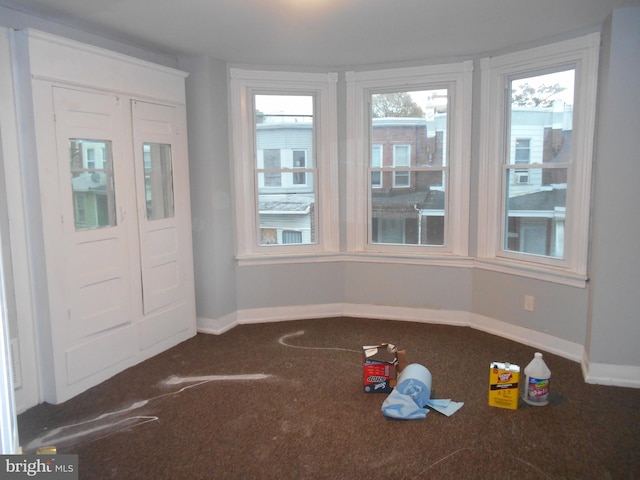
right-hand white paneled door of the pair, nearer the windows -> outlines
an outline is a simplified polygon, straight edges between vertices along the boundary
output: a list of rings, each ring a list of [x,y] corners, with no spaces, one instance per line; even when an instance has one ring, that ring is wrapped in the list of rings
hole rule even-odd
[[[194,330],[184,109],[131,101],[142,280],[140,348]]]

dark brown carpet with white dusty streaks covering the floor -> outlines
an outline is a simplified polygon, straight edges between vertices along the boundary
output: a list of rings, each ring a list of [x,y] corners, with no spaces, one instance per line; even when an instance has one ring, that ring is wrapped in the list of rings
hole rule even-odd
[[[384,417],[386,395],[362,390],[361,346],[379,342],[429,368],[432,398],[464,406],[451,417]],[[490,362],[524,367],[534,352],[465,327],[244,325],[28,410],[20,439],[28,453],[54,444],[78,454],[81,479],[640,478],[638,389],[588,385],[578,363],[545,353],[549,405],[488,406]],[[246,374],[269,376],[209,377]]]

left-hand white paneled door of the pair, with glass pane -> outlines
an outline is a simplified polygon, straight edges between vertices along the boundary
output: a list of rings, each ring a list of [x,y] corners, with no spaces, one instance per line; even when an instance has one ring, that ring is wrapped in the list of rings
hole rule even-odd
[[[116,95],[53,88],[69,342],[132,321],[130,193]]]

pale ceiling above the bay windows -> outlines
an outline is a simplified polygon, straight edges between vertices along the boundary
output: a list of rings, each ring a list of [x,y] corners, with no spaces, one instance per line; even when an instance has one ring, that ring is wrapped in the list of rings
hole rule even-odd
[[[640,0],[0,0],[170,56],[347,67],[508,51],[598,28]]]

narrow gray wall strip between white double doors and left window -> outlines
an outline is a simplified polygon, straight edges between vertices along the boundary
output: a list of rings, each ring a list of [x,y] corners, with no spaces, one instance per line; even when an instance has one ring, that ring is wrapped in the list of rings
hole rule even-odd
[[[189,176],[198,317],[237,310],[233,192],[229,157],[227,66],[183,58],[187,78]]]

